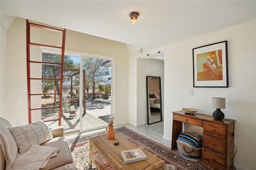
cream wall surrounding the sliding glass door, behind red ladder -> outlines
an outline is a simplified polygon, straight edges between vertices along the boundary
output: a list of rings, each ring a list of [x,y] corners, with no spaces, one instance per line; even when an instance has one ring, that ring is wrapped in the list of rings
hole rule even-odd
[[[1,49],[4,46],[1,45]],[[6,92],[1,115],[13,126],[28,123],[26,75],[26,20],[16,18],[7,32],[5,79]],[[128,51],[124,43],[67,30],[66,51],[115,58],[115,125],[128,123]],[[2,56],[1,56],[2,60]],[[1,68],[2,69],[2,68]],[[2,97],[2,95],[1,95]],[[8,112],[8,113],[7,113]]]

